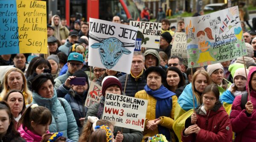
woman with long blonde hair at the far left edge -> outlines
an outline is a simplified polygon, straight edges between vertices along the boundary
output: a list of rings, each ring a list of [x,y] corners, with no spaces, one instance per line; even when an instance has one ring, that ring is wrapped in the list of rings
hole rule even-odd
[[[3,91],[0,94],[0,100],[2,100],[11,89],[22,92],[26,105],[32,103],[32,92],[28,89],[26,77],[18,68],[11,68],[4,75]]]

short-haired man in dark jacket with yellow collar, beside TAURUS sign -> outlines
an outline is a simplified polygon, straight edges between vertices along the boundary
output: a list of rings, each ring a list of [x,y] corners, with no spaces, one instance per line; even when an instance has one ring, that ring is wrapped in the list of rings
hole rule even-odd
[[[147,81],[144,78],[144,62],[145,58],[141,52],[134,51],[130,74],[120,76],[118,79],[122,84],[122,89],[125,88],[126,75],[128,75],[125,94],[134,97],[135,93],[144,89]]]

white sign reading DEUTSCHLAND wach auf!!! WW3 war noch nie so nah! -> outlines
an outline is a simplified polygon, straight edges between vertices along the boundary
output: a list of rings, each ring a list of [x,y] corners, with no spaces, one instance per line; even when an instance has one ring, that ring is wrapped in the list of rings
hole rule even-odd
[[[144,131],[148,100],[124,95],[107,94],[102,119],[115,126]]]

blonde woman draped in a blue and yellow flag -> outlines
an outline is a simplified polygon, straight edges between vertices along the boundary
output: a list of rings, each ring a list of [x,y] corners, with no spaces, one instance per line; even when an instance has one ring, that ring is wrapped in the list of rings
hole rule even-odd
[[[184,129],[185,120],[190,117],[193,112],[193,93],[195,95],[195,107],[201,106],[203,103],[202,92],[207,85],[212,84],[212,81],[206,71],[198,70],[193,75],[193,84],[193,88],[192,83],[185,87],[178,98],[178,103],[175,108],[173,130],[179,140],[181,140],[181,132]]]

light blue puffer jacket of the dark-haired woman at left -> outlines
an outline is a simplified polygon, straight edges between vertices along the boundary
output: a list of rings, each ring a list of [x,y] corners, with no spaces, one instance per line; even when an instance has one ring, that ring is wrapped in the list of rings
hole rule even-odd
[[[71,110],[70,105],[64,98],[59,98],[64,104],[64,108],[61,102],[58,100],[56,90],[54,89],[54,95],[52,98],[44,98],[33,92],[33,102],[39,106],[44,106],[52,113],[52,123],[49,126],[49,131],[52,133],[62,132],[63,136],[68,139],[77,142],[79,139],[78,127],[76,120]]]

